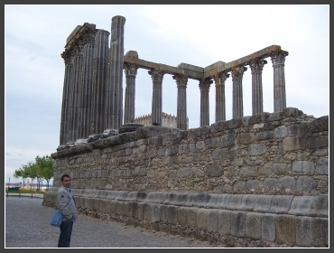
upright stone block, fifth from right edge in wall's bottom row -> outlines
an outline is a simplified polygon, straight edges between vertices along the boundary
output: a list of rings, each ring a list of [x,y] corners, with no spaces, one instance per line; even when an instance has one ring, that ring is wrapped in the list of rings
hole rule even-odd
[[[251,239],[262,237],[262,214],[256,212],[246,213],[245,235]]]

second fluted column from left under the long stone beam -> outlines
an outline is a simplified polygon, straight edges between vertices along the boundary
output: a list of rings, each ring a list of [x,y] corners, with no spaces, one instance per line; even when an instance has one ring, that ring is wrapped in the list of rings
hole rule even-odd
[[[161,70],[149,70],[153,81],[152,94],[152,126],[162,126],[162,79],[164,72]]]

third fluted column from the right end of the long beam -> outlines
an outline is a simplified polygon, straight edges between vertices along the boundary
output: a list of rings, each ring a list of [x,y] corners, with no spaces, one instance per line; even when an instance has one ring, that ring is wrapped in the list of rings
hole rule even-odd
[[[232,70],[233,82],[233,118],[244,116],[242,79],[246,67],[238,66]]]

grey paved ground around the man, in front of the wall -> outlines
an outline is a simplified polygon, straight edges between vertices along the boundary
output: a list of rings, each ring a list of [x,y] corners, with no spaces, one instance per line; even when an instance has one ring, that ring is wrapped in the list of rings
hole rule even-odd
[[[57,247],[60,229],[49,223],[53,208],[42,206],[42,197],[38,196],[5,196],[5,248]],[[70,243],[70,248],[213,247],[207,241],[184,239],[81,214],[73,226]]]

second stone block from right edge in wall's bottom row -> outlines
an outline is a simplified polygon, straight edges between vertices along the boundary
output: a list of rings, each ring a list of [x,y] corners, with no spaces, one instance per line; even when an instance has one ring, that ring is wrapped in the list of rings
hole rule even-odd
[[[302,247],[312,246],[311,217],[296,217],[296,245]]]

